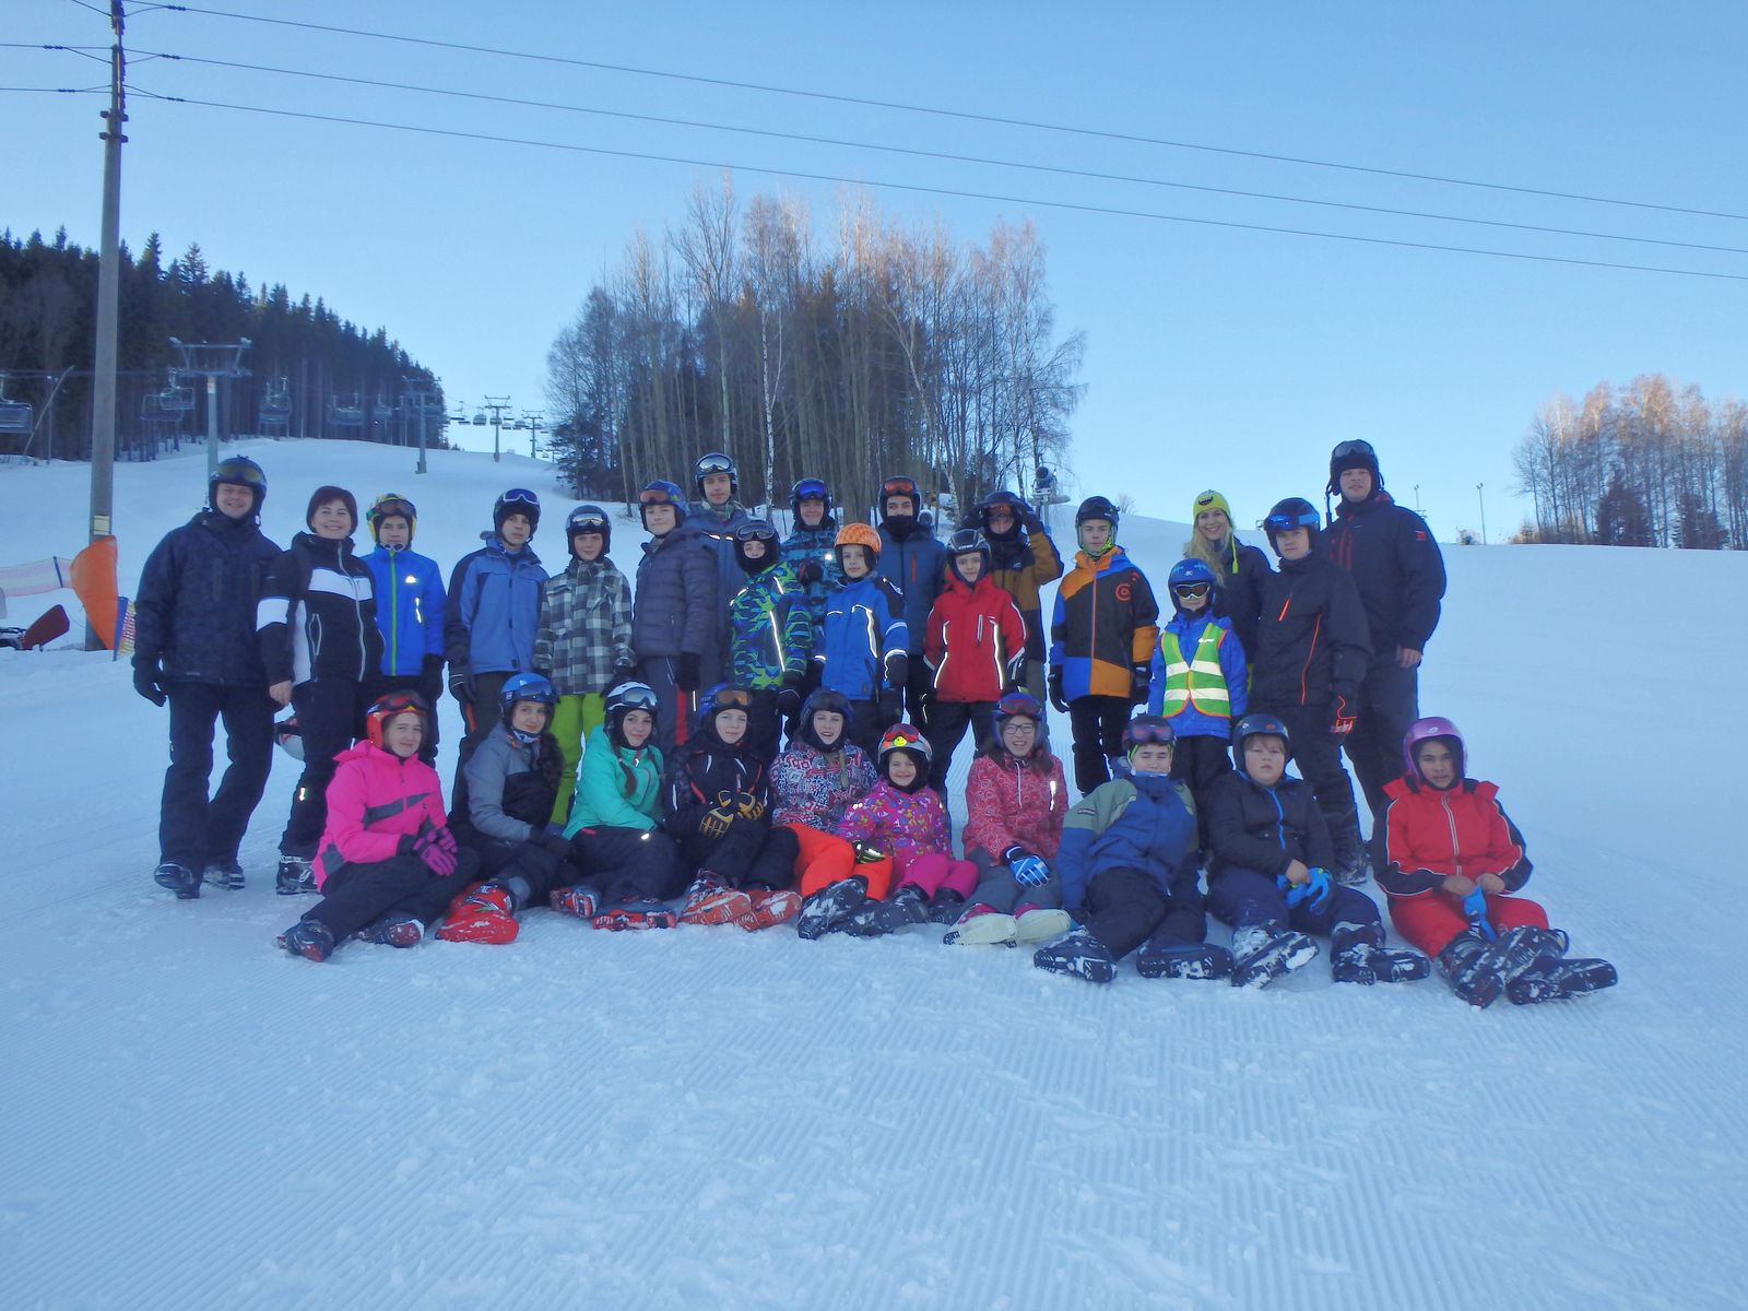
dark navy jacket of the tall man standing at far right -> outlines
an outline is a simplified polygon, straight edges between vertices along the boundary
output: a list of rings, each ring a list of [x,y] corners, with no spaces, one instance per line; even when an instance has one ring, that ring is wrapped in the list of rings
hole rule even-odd
[[[1358,503],[1342,498],[1323,542],[1360,589],[1376,657],[1425,650],[1444,600],[1444,554],[1426,521],[1374,491]]]

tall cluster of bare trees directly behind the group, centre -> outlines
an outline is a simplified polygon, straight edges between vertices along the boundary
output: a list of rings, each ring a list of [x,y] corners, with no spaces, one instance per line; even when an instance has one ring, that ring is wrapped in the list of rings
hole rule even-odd
[[[801,201],[743,203],[724,178],[678,229],[640,231],[558,334],[552,449],[579,496],[689,484],[720,449],[748,503],[816,475],[865,507],[911,474],[965,505],[1066,449],[1084,344],[1056,332],[1030,224],[960,245],[857,196],[816,234]]]

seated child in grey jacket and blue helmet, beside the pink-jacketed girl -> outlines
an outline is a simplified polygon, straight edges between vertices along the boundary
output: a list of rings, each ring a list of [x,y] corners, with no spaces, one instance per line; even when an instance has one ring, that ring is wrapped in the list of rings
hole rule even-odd
[[[547,905],[554,888],[575,883],[570,843],[547,830],[563,767],[547,732],[558,690],[538,673],[510,675],[498,694],[502,715],[461,767],[467,809],[453,816],[456,837],[479,853],[486,883],[456,898],[437,930],[446,942],[514,942],[516,912]]]

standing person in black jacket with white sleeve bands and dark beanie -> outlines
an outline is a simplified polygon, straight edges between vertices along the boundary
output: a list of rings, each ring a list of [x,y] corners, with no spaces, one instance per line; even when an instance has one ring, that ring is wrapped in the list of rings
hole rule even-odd
[[[315,891],[309,862],[327,822],[334,757],[364,732],[364,711],[381,675],[371,570],[351,551],[358,502],[344,488],[316,488],[308,533],[280,552],[260,593],[255,622],[267,696],[297,710],[304,773],[280,837],[280,891]]]

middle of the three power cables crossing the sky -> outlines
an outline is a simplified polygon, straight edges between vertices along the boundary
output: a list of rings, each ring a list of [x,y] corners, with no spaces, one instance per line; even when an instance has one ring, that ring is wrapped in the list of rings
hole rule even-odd
[[[58,49],[58,47],[47,47],[47,49]],[[783,140],[783,142],[806,142],[809,145],[834,145],[834,147],[848,147],[851,150],[881,150],[881,152],[886,152],[886,154],[912,156],[912,157],[918,157],[918,159],[939,159],[939,161],[953,163],[953,164],[988,164],[988,166],[995,166],[995,168],[1017,168],[1017,170],[1024,170],[1024,171],[1031,171],[1031,173],[1056,173],[1059,177],[1089,178],[1089,180],[1094,180],[1094,182],[1127,182],[1127,184],[1143,185],[1143,187],[1169,187],[1173,191],[1196,191],[1196,192],[1203,192],[1203,194],[1210,194],[1210,196],[1236,196],[1236,198],[1241,198],[1241,199],[1281,201],[1285,205],[1311,205],[1311,206],[1327,208],[1327,210],[1351,210],[1351,212],[1356,212],[1356,213],[1381,213],[1381,215],[1388,215],[1388,217],[1393,217],[1393,218],[1430,218],[1430,220],[1435,220],[1435,222],[1468,224],[1468,225],[1475,225],[1475,227],[1505,227],[1505,229],[1517,231],[1517,232],[1543,232],[1543,234],[1549,234],[1549,236],[1578,236],[1578,238],[1592,238],[1592,239],[1598,239],[1598,241],[1633,241],[1633,243],[1638,243],[1638,245],[1650,245],[1650,246],[1675,246],[1675,248],[1680,248],[1680,250],[1710,250],[1710,252],[1725,253],[1725,255],[1748,255],[1748,248],[1745,248],[1745,246],[1718,246],[1718,245],[1708,245],[1708,243],[1703,243],[1703,241],[1676,241],[1676,239],[1671,239],[1671,238],[1657,238],[1657,236],[1629,236],[1629,234],[1624,234],[1624,232],[1598,232],[1598,231],[1582,229],[1582,227],[1549,227],[1549,225],[1542,225],[1542,224],[1517,224],[1517,222],[1510,222],[1510,220],[1505,220],[1505,218],[1472,218],[1472,217],[1467,217],[1467,215],[1454,215],[1454,213],[1433,213],[1433,212],[1428,212],[1428,210],[1398,210],[1398,208],[1391,208],[1391,206],[1384,206],[1384,205],[1362,205],[1362,203],[1356,203],[1356,201],[1325,201],[1325,199],[1316,199],[1316,198],[1311,198],[1311,196],[1287,196],[1287,194],[1267,192],[1267,191],[1245,191],[1245,189],[1239,189],[1239,187],[1210,187],[1210,185],[1203,185],[1203,184],[1196,184],[1196,182],[1171,182],[1168,178],[1148,178],[1148,177],[1138,177],[1138,175],[1133,175],[1133,173],[1101,173],[1101,171],[1084,170],[1084,168],[1061,168],[1061,166],[1056,166],[1056,164],[1033,164],[1033,163],[1026,163],[1026,161],[1021,161],[1021,159],[991,159],[988,156],[963,156],[963,154],[951,154],[951,152],[946,152],[946,150],[923,150],[919,147],[883,145],[879,142],[857,142],[857,140],[837,138],[837,136],[811,136],[811,135],[806,135],[806,133],[788,133],[788,131],[776,131],[776,129],[766,129],[766,128],[739,128],[739,126],[732,126],[732,124],[704,122],[704,121],[699,121],[699,119],[675,119],[675,117],[666,117],[666,115],[659,115],[659,114],[633,114],[629,110],[594,108],[591,105],[566,105],[563,101],[552,101],[552,100],[526,100],[526,98],[521,98],[521,96],[498,96],[498,94],[489,94],[489,93],[484,93],[484,91],[460,91],[456,87],[421,86],[418,82],[386,82],[386,80],[381,80],[381,79],[376,79],[376,77],[350,77],[350,75],[344,75],[344,73],[318,73],[318,72],[311,72],[311,70],[306,70],[306,68],[280,68],[280,66],[274,66],[274,65],[241,63],[241,61],[236,61],[236,59],[208,59],[208,58],[198,56],[198,54],[170,54],[166,51],[143,51],[143,52],[138,52],[135,56],[136,61],[142,59],[142,58],[173,59],[177,63],[210,65],[213,68],[238,68],[238,70],[253,72],[253,73],[281,73],[285,77],[306,77],[306,79],[313,79],[313,80],[320,80],[320,82],[344,82],[344,84],[350,84],[350,86],[369,86],[369,87],[381,87],[381,89],[388,89],[388,91],[416,91],[416,93],[427,94],[427,96],[451,96],[451,98],[456,98],[456,100],[477,100],[477,101],[488,101],[488,103],[493,103],[493,105],[519,105],[523,108],[563,110],[566,114],[593,114],[593,115],[608,117],[608,119],[626,119],[626,121],[631,121],[631,122],[654,122],[654,124],[662,124],[662,126],[669,126],[669,128],[701,128],[701,129],[706,129],[706,131],[739,133],[739,135],[745,135],[745,136],[769,136],[769,138]]]

